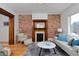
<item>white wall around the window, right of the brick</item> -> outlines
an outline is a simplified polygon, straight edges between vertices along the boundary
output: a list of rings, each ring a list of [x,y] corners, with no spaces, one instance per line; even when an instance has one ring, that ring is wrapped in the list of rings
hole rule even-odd
[[[68,23],[70,22],[69,17],[75,13],[79,13],[79,4],[73,4],[61,13],[61,27],[63,29],[63,33],[68,34],[70,32],[70,23]]]

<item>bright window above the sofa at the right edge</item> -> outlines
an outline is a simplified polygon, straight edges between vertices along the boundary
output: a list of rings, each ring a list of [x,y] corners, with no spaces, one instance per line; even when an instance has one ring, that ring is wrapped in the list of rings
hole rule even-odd
[[[71,33],[79,34],[79,13],[71,16]]]

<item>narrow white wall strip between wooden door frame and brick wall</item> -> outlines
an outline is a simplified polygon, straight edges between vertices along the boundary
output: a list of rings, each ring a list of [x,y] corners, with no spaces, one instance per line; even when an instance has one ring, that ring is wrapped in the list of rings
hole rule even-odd
[[[15,40],[15,43],[16,43],[16,35],[18,33],[18,15],[14,12],[14,10],[12,10],[11,8],[9,8],[6,4],[1,4],[0,3],[0,8],[3,8],[4,10],[12,13],[15,18],[14,18],[14,40]]]

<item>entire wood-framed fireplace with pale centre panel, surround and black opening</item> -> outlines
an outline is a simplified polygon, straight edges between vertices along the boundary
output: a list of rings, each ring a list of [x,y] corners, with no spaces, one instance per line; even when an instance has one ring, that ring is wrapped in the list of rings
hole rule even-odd
[[[48,39],[47,20],[33,20],[32,41],[46,41]]]

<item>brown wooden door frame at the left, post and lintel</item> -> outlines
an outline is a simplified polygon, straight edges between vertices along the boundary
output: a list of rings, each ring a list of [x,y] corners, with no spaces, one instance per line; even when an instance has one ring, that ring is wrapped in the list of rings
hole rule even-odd
[[[14,15],[4,10],[3,8],[0,8],[0,14],[9,17],[9,44],[13,45],[14,44]]]

